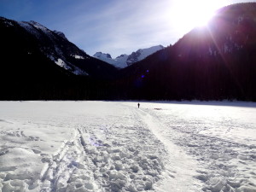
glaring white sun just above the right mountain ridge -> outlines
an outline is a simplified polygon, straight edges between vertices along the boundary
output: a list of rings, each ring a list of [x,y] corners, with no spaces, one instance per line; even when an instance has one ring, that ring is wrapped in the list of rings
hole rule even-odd
[[[172,26],[187,33],[195,27],[207,26],[216,9],[222,7],[218,0],[176,1],[172,7]]]

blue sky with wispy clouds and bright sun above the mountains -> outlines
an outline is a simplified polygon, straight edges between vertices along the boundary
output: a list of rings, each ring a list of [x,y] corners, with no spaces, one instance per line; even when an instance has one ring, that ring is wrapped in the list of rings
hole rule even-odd
[[[89,55],[175,44],[215,9],[247,0],[0,0],[0,15],[64,32]]]

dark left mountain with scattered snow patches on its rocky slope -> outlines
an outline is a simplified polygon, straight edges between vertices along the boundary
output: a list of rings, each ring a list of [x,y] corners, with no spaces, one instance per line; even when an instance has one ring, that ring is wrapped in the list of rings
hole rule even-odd
[[[1,100],[95,99],[117,72],[34,21],[1,17],[0,32]]]

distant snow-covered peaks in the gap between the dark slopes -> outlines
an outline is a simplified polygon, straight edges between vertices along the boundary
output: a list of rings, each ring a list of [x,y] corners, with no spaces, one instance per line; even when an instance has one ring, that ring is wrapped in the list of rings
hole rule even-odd
[[[162,45],[157,45],[148,49],[138,49],[136,52],[132,52],[131,55],[119,55],[115,59],[113,59],[111,55],[102,52],[96,52],[96,54],[93,56],[99,60],[108,62],[114,67],[125,68],[137,61],[142,61],[148,55],[152,55],[160,49],[164,49],[164,47]]]

